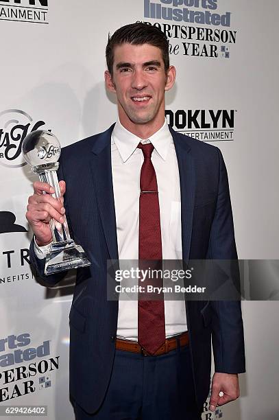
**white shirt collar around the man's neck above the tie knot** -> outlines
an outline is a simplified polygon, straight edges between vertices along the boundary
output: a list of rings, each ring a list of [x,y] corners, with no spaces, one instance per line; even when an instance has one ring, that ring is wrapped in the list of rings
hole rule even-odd
[[[140,137],[134,135],[132,132],[128,131],[125,127],[122,126],[119,120],[115,124],[112,131],[112,141],[114,141],[115,145],[117,146],[123,162],[128,161],[130,156],[132,156],[136,150],[140,141],[141,143],[145,144],[146,142],[149,143],[148,140],[154,145],[156,152],[158,152],[160,157],[165,161],[167,159],[169,145],[173,142],[166,119],[162,127],[156,131],[154,135],[151,135],[147,140],[143,140]]]

